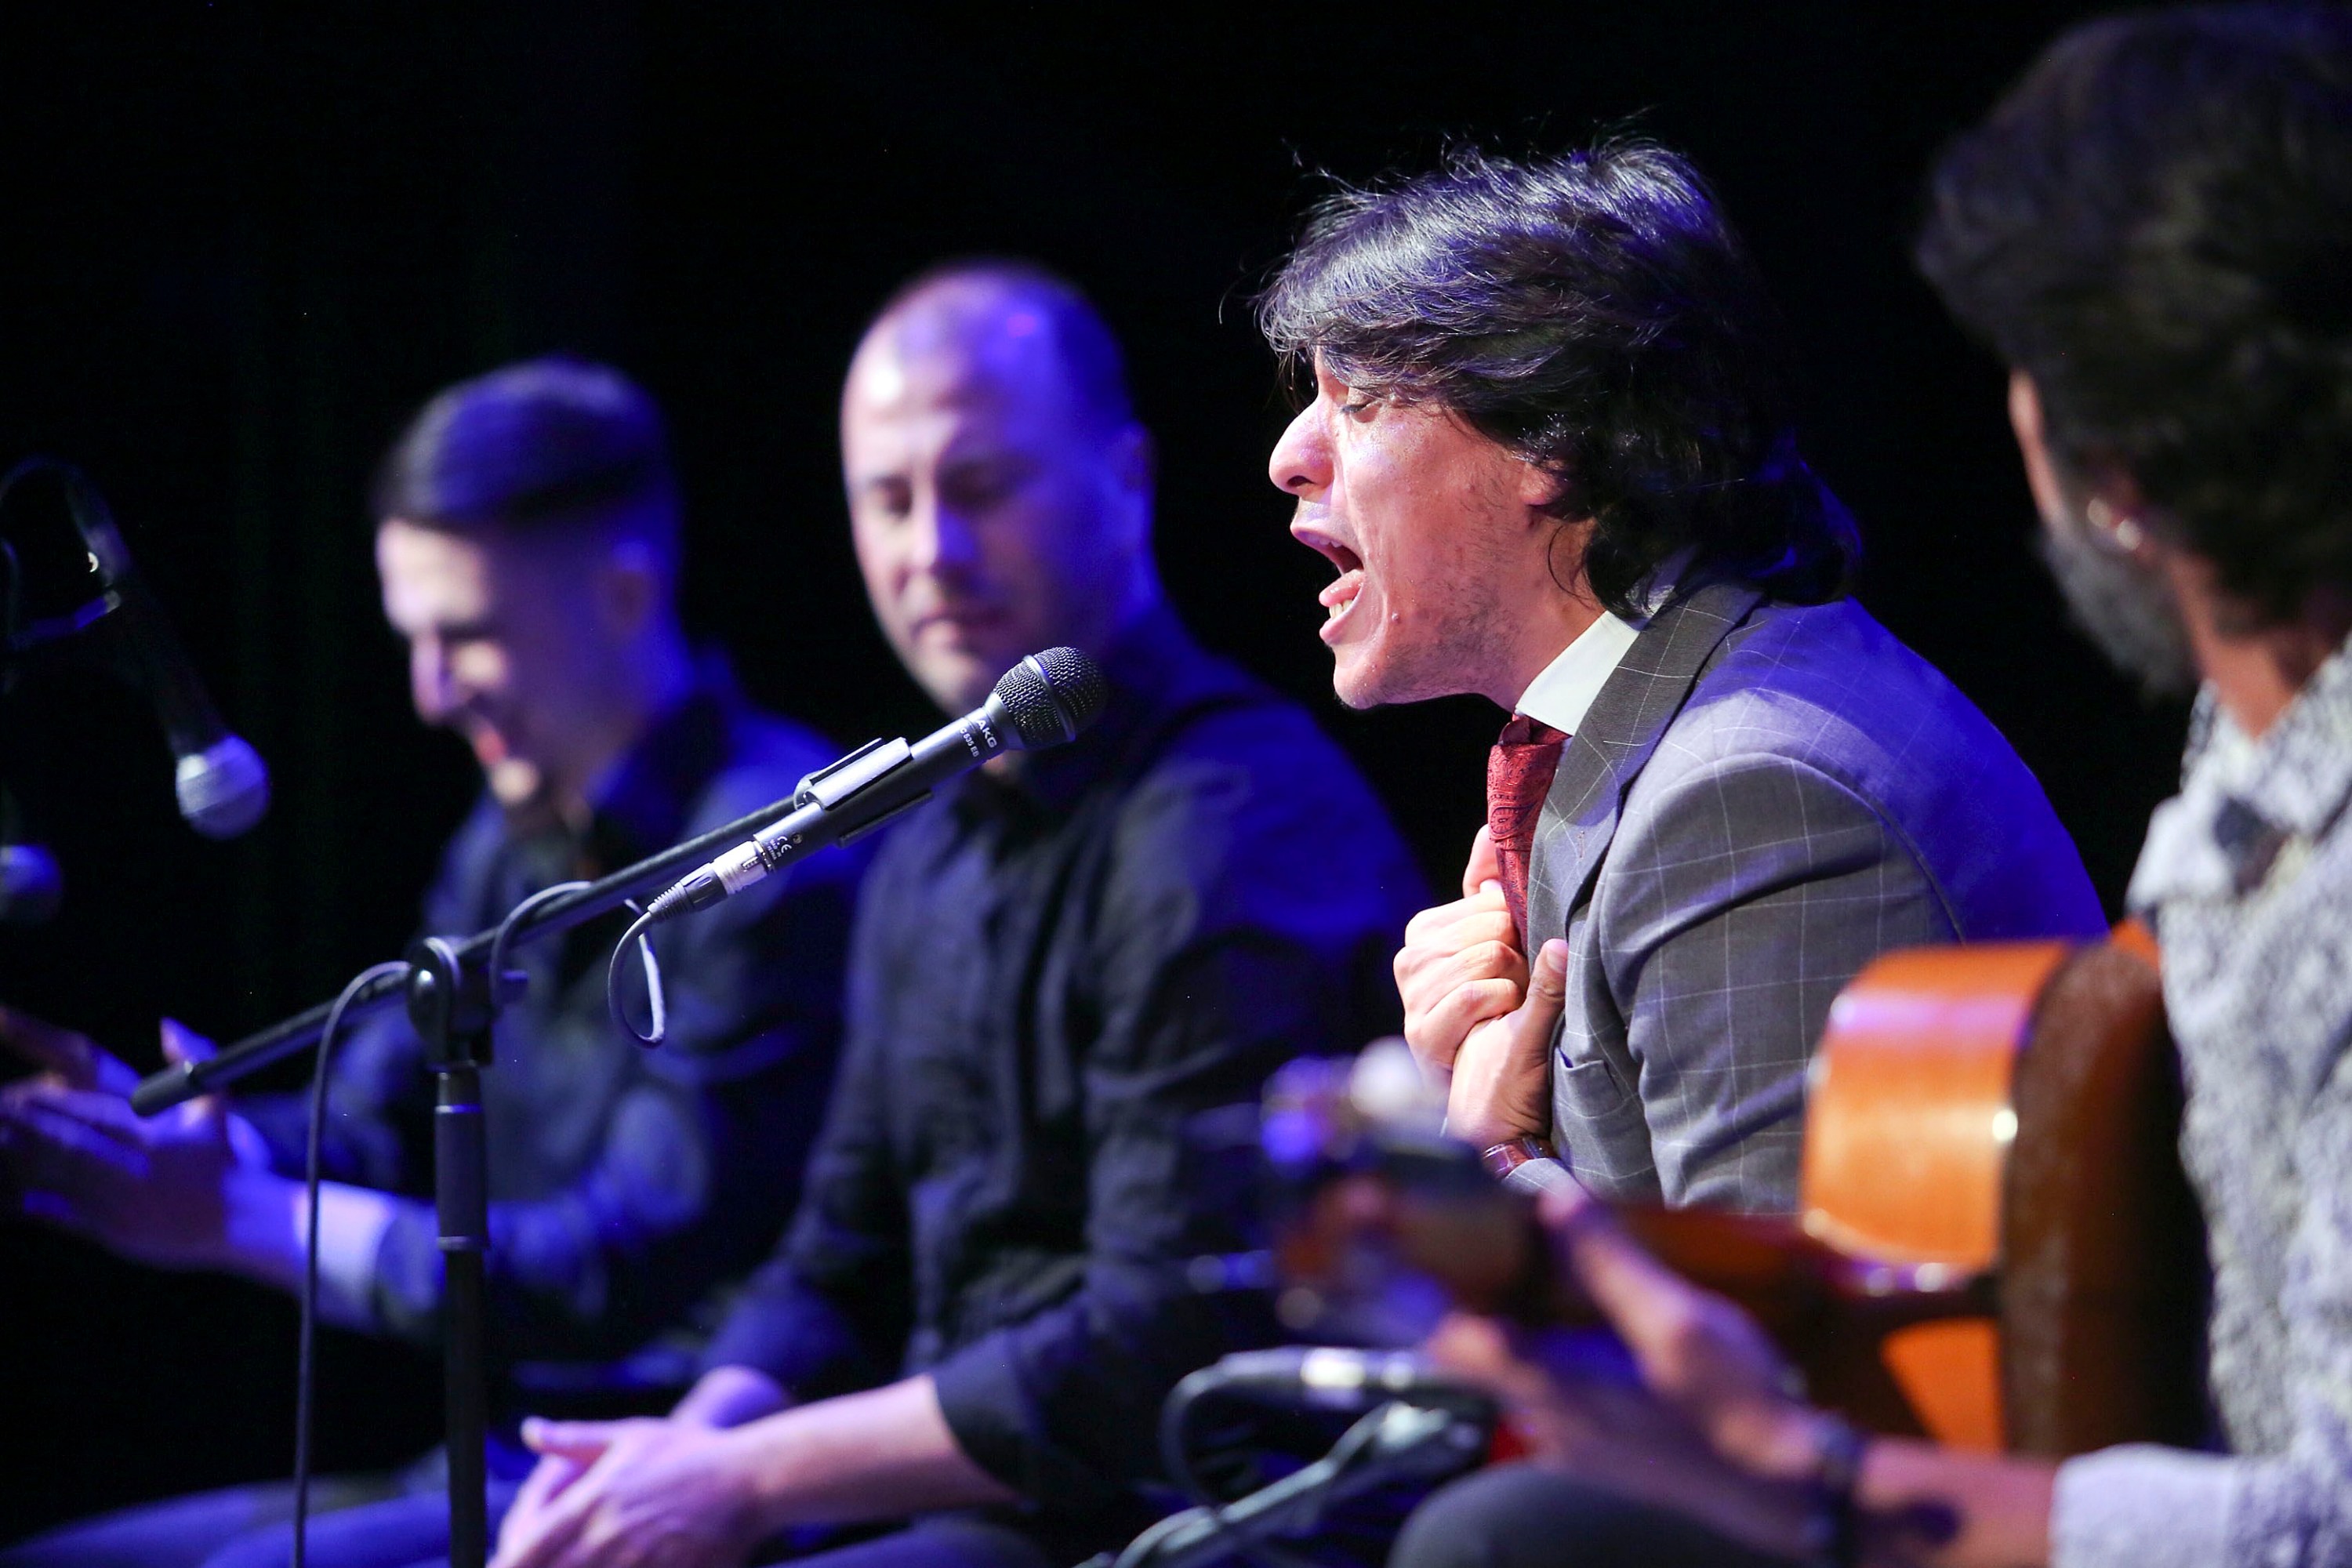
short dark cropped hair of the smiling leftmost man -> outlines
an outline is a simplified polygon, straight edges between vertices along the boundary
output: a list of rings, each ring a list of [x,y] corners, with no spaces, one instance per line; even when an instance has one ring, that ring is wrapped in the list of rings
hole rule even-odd
[[[661,409],[609,364],[524,360],[440,390],[383,454],[379,520],[555,531],[626,520],[677,550],[677,477]]]

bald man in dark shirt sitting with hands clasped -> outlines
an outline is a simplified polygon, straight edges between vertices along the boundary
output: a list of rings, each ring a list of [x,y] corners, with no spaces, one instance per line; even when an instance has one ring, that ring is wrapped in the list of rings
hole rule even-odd
[[[1207,1119],[1395,1027],[1418,877],[1315,724],[1162,599],[1150,435],[1087,301],[1018,263],[906,287],[851,362],[842,473],[875,616],[946,712],[1054,644],[1112,701],[891,830],[797,1220],[668,1420],[527,1429],[499,1568],[729,1568],[844,1523],[880,1528],[835,1568],[1127,1540],[1167,1389],[1270,1333],[1185,1286],[1249,1244]]]

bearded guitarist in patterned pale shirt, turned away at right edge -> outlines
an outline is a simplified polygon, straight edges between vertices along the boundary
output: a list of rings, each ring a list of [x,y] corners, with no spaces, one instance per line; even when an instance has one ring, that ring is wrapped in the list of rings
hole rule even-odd
[[[1576,1199],[1548,1215],[1562,1267],[1644,1387],[1451,1342],[1526,1399],[1555,1462],[1698,1521],[1658,1528],[1703,1528],[1717,1561],[2352,1563],[2352,16],[2067,33],[1938,167],[1919,261],[2011,367],[2082,623],[2154,689],[2201,682],[2131,905],[2164,950],[2225,1450],[1863,1443],[1790,1396],[1729,1302]],[[1564,1561],[1465,1549],[1456,1523],[1416,1523],[1397,1561]],[[1623,1561],[1651,1561],[1639,1535]]]

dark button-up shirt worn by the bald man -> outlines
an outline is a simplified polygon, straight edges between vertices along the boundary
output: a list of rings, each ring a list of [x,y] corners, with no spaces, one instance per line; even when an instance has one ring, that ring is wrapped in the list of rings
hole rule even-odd
[[[1183,1279],[1251,1244],[1204,1114],[1395,1027],[1423,893],[1338,748],[1174,616],[1105,670],[1096,729],[882,846],[802,1208],[708,1352],[795,1399],[929,1371],[1056,1514],[1124,1512],[1176,1378],[1268,1333]]]

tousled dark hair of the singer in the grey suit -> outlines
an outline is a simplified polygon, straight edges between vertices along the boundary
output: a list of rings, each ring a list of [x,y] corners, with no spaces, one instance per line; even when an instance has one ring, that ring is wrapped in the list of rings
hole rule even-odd
[[[1797,456],[1764,280],[1705,181],[1637,139],[1543,162],[1458,148],[1341,188],[1258,299],[1268,343],[1352,388],[1454,409],[1595,522],[1585,576],[1635,614],[1658,567],[1799,602],[1846,592],[1853,517]]]

